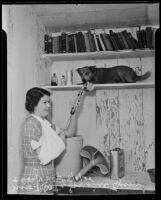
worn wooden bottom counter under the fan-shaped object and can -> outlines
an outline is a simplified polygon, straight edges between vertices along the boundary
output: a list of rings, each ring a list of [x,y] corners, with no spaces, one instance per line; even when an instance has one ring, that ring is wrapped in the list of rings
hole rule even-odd
[[[111,190],[141,190],[155,191],[155,183],[150,181],[147,172],[131,172],[119,180],[112,180],[110,177],[86,176],[85,179],[75,182],[70,177],[58,177],[56,186],[70,188],[106,188]]]

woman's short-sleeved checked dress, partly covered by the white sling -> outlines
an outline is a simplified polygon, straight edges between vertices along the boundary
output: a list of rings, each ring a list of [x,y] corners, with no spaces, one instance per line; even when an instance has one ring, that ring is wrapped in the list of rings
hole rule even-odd
[[[41,165],[38,153],[31,147],[31,140],[39,141],[42,136],[40,122],[33,116],[26,118],[22,129],[23,172],[18,187],[19,193],[46,193],[52,192],[55,182],[55,168],[51,161]]]

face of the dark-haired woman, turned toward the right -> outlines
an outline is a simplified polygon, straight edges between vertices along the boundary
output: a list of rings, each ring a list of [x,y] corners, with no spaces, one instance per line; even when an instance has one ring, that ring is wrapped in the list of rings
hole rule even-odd
[[[41,118],[45,118],[49,113],[50,107],[50,96],[44,95],[43,97],[41,97],[38,105],[35,107],[34,114]]]

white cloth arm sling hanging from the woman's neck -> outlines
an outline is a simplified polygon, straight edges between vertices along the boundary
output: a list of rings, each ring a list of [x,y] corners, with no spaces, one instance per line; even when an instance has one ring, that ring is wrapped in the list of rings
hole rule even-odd
[[[33,116],[41,123],[42,136],[38,142],[32,140],[31,147],[35,150],[41,146],[38,157],[40,164],[46,165],[51,160],[57,158],[64,151],[65,144],[57,133],[51,128],[51,124],[48,120],[41,119],[36,115]]]

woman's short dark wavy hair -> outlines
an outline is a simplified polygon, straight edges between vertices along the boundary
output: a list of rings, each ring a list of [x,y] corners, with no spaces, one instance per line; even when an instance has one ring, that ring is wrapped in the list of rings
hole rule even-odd
[[[40,99],[44,96],[50,96],[50,92],[44,90],[43,88],[34,87],[27,91],[26,93],[26,103],[25,108],[30,113],[34,112],[35,107],[38,105]]]

